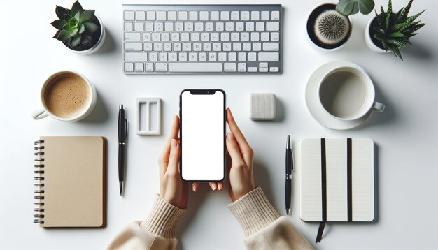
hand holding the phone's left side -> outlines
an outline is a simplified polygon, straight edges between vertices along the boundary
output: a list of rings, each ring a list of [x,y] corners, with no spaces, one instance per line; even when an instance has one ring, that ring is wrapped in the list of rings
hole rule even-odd
[[[188,184],[179,173],[180,144],[178,142],[179,117],[175,115],[169,139],[158,158],[160,166],[160,196],[171,205],[185,209],[188,202]]]

